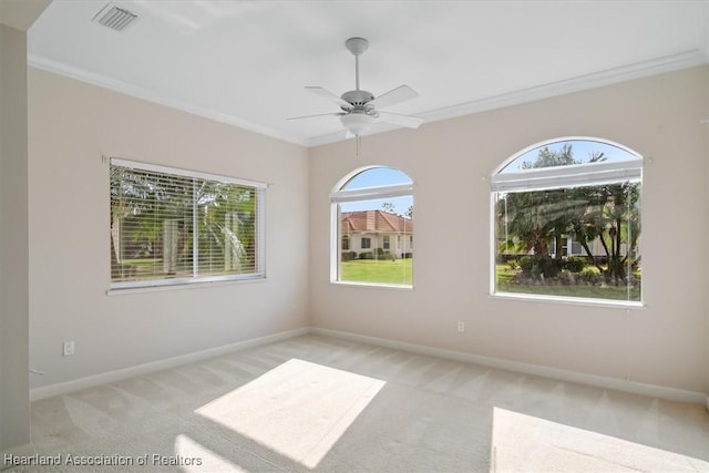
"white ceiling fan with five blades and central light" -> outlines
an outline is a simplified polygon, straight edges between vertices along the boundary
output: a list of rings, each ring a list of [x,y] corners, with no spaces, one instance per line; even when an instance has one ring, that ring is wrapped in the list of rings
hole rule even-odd
[[[340,106],[340,112],[321,113],[318,115],[296,116],[288,120],[311,119],[316,116],[339,116],[342,126],[353,134],[360,136],[372,124],[379,120],[394,125],[417,128],[423,119],[419,116],[401,115],[399,113],[383,112],[379,109],[394,105],[419,96],[419,94],[409,85],[400,85],[378,97],[371,92],[360,90],[359,88],[359,56],[369,48],[369,41],[364,38],[350,38],[345,42],[345,47],[354,55],[354,90],[345,92],[341,96],[337,96],[332,92],[318,88],[306,86],[306,90],[331,100]]]

